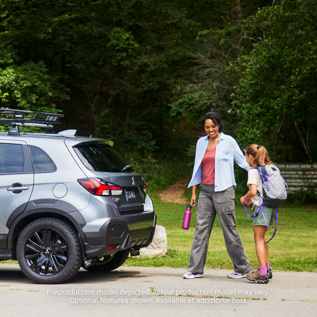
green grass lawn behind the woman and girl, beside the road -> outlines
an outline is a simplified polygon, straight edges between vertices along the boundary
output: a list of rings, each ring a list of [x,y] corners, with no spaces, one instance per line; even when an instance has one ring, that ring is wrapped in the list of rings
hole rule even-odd
[[[191,243],[196,225],[196,207],[192,208],[189,230],[182,229],[186,206],[180,204],[154,203],[157,224],[165,227],[168,253],[165,256],[129,258],[127,266],[168,266],[187,268]],[[236,207],[236,227],[252,268],[258,267],[252,220],[244,212],[243,206]],[[267,231],[267,240],[274,227]],[[275,270],[317,271],[317,210],[313,207],[281,206],[279,223],[275,237],[268,243],[270,266]],[[211,232],[206,268],[232,269],[233,265],[225,248],[222,229],[216,217]]]

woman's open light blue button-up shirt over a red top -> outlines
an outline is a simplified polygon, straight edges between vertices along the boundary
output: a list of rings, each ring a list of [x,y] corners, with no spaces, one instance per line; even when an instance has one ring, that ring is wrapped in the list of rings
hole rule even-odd
[[[208,135],[197,141],[193,176],[188,187],[201,183],[200,164],[204,158],[208,143]],[[245,160],[245,156],[236,140],[222,132],[215,153],[215,191],[224,191],[233,185],[236,188],[235,173],[233,170],[234,160],[247,171],[251,168]]]

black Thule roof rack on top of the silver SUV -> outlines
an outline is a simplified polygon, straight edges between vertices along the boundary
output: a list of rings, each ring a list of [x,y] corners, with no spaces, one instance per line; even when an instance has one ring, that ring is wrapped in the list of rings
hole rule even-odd
[[[24,119],[25,115],[33,114],[33,118]],[[3,115],[6,117],[2,119]],[[19,126],[39,126],[46,128],[46,133],[55,134],[53,124],[60,124],[59,118],[63,118],[63,114],[46,113],[37,111],[0,109],[0,124],[10,124],[8,135],[20,135]]]

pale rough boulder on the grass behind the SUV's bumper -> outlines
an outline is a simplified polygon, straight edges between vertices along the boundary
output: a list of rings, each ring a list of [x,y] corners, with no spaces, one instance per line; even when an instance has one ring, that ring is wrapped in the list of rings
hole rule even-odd
[[[164,256],[167,253],[167,238],[166,231],[163,226],[156,225],[155,234],[152,243],[140,249],[141,256]]]

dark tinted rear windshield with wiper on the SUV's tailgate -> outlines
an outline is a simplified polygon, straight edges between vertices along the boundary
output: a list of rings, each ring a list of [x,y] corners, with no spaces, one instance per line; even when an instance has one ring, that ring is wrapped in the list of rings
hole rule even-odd
[[[84,165],[97,172],[121,172],[128,165],[126,160],[107,144],[90,144],[74,147]],[[127,172],[134,172],[133,168]]]

